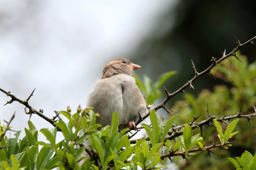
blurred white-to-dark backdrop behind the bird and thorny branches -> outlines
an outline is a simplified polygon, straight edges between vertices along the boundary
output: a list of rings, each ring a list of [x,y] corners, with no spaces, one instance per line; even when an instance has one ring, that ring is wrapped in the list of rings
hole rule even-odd
[[[236,47],[235,37],[244,43],[256,35],[255,6],[252,0],[0,0],[0,87],[23,100],[36,87],[29,104],[52,117],[67,106],[86,107],[104,65],[122,57],[140,65],[136,73],[153,82],[161,73],[177,71],[165,85],[174,92],[194,76],[191,59],[201,72],[211,57]],[[241,53],[249,63],[256,59],[255,45]],[[204,75],[193,84],[195,90],[187,91],[196,95],[223,83]],[[179,99],[182,95],[169,107]],[[0,104],[7,100],[1,92]],[[29,115],[17,102],[0,106],[1,123],[14,111],[11,126],[22,130]],[[52,128],[36,115],[31,120],[38,130]]]

